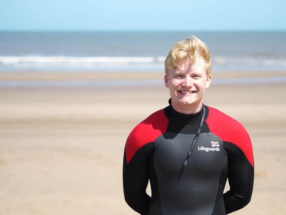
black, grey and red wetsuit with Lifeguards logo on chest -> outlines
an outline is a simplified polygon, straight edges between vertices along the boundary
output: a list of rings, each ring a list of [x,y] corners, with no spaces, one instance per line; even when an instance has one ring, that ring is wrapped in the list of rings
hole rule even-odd
[[[183,171],[203,110],[182,114],[170,104],[139,123],[128,136],[124,195],[138,213],[222,215],[250,201],[254,162],[249,135],[231,117],[204,107],[205,121]],[[223,193],[227,178],[230,190]],[[151,197],[146,193],[148,180]]]

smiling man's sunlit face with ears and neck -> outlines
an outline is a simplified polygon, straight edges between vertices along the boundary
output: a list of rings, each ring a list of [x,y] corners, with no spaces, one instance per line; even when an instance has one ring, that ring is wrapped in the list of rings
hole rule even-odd
[[[178,68],[165,75],[165,86],[169,88],[172,106],[183,113],[201,109],[205,89],[210,84],[211,75],[207,76],[203,59],[198,59],[193,65],[189,59],[182,59]]]

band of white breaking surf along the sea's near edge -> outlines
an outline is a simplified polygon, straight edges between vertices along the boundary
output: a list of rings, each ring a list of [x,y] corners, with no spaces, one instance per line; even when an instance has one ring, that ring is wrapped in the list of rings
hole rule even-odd
[[[0,70],[4,69],[153,69],[162,70],[163,56],[0,56]],[[286,69],[286,57],[215,56],[213,67]]]

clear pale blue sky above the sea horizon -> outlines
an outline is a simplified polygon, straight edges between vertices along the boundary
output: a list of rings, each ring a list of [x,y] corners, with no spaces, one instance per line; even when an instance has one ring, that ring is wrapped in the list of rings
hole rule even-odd
[[[286,1],[1,0],[0,30],[286,30]]]

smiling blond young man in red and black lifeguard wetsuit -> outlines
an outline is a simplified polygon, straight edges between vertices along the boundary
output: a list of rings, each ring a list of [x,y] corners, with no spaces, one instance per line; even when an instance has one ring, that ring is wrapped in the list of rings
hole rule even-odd
[[[124,195],[138,213],[222,215],[250,201],[251,141],[239,122],[203,104],[211,78],[205,43],[192,37],[171,48],[165,60],[169,106],[139,123],[125,146]],[[230,190],[223,193],[227,179]]]

